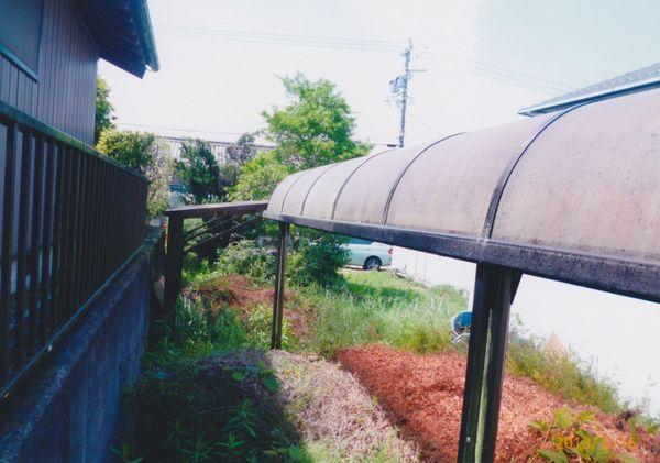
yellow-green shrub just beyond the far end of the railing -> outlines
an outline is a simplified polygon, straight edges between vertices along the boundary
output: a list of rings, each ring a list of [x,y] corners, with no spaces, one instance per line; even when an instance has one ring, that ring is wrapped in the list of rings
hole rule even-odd
[[[153,133],[105,130],[97,150],[146,177],[146,208],[150,216],[157,216],[167,209],[174,161],[167,146],[158,142]]]

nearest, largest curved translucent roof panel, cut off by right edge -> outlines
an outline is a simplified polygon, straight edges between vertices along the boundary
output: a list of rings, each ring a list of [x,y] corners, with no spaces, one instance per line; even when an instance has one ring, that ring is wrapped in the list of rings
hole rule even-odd
[[[659,108],[653,91],[558,119],[514,169],[493,238],[657,260]]]

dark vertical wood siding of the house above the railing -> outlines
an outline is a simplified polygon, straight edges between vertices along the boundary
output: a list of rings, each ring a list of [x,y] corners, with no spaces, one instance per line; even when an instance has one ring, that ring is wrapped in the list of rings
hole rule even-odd
[[[94,143],[98,52],[72,0],[44,1],[38,81],[0,55],[0,100]]]

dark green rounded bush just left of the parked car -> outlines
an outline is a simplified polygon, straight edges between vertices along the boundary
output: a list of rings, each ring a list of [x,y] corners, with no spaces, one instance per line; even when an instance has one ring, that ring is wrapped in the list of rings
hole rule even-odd
[[[341,282],[339,269],[346,264],[349,251],[343,246],[345,239],[323,234],[318,240],[302,238],[298,249],[290,254],[287,276],[297,285],[334,285]]]

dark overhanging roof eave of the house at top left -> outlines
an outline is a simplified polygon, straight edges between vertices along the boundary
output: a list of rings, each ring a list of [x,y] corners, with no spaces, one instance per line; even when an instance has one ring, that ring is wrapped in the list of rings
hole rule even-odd
[[[76,0],[99,56],[138,77],[158,70],[146,0]]]

